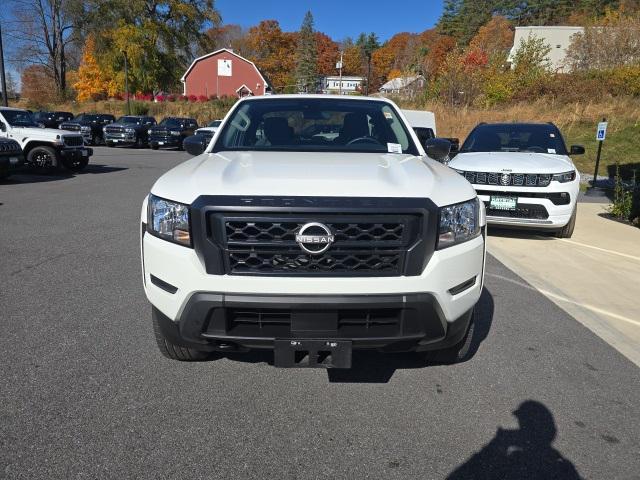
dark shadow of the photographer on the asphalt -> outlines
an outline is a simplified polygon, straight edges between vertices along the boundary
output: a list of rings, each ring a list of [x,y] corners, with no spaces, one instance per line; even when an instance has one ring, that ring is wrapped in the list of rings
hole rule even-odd
[[[518,429],[498,428],[493,439],[451,472],[447,480],[582,478],[573,463],[552,446],[557,429],[547,407],[527,400],[513,415],[518,419]]]

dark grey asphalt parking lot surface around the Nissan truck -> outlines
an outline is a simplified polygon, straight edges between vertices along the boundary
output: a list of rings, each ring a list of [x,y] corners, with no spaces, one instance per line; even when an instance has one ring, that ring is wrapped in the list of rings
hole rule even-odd
[[[186,158],[0,183],[0,477],[639,478],[640,370],[493,257],[460,365],[163,358],[140,204]]]

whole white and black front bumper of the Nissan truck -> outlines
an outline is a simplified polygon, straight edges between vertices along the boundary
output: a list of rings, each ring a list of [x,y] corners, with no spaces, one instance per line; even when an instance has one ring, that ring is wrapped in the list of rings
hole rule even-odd
[[[479,236],[434,252],[416,276],[238,276],[208,274],[193,249],[144,229],[141,249],[145,293],[163,333],[202,350],[273,348],[283,338],[348,339],[353,348],[382,350],[446,348],[464,334],[480,298],[485,257]],[[268,322],[274,315],[275,329]]]

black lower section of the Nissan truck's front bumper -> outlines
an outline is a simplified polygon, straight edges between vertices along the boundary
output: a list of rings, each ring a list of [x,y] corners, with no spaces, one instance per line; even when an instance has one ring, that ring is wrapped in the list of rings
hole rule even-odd
[[[429,294],[236,295],[196,293],[177,322],[153,308],[172,343],[205,351],[274,349],[278,341],[348,341],[353,349],[426,351],[466,333],[471,311],[454,322]]]

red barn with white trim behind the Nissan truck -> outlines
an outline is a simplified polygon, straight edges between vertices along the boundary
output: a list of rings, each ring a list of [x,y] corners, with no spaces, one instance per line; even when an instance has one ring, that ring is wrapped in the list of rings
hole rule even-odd
[[[196,58],[180,79],[185,95],[264,95],[270,88],[255,64],[226,48]]]

